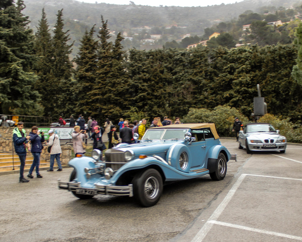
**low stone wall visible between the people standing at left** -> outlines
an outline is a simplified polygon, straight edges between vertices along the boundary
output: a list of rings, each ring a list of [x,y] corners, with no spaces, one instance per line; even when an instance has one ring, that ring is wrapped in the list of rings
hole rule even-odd
[[[0,153],[15,153],[14,143],[13,143],[13,129],[14,127],[0,127]],[[25,129],[28,134],[31,129]],[[70,145],[61,145],[61,163],[66,165],[71,159],[71,149]],[[27,156],[32,156],[31,152],[27,152]],[[49,162],[50,154],[47,152],[47,146],[44,146],[40,159],[45,159]]]

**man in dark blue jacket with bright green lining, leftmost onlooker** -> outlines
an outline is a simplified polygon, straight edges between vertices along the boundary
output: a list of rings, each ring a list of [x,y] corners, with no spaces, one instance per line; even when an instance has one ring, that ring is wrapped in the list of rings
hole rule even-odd
[[[25,135],[25,129],[23,128],[23,122],[18,122],[18,125],[13,130],[13,141],[15,151],[19,156],[21,165],[20,165],[20,178],[19,182],[29,182],[29,180],[25,179],[23,176],[24,166],[25,166],[25,158],[26,158],[26,145],[27,140],[30,138],[29,135]]]

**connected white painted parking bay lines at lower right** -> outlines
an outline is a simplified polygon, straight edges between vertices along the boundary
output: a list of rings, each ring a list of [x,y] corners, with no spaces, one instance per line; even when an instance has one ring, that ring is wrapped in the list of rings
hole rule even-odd
[[[282,158],[284,158],[284,157],[282,157]],[[288,177],[263,176],[263,175],[254,175],[254,174],[241,174],[239,176],[239,178],[237,179],[237,181],[235,182],[235,184],[233,185],[233,187],[226,194],[223,201],[216,208],[216,210],[213,212],[213,214],[210,216],[210,218],[207,220],[207,222],[204,224],[204,226],[202,226],[202,228],[198,231],[198,233],[191,240],[191,242],[201,242],[204,239],[204,237],[207,236],[208,232],[213,227],[213,224],[220,224],[220,225],[229,226],[229,227],[236,226],[236,228],[239,228],[239,229],[245,229],[245,230],[249,230],[249,231],[259,232],[259,233],[262,233],[262,234],[271,234],[271,235],[276,235],[276,236],[279,236],[279,237],[302,240],[302,237],[298,237],[298,236],[294,236],[294,235],[281,234],[281,233],[277,233],[277,232],[265,231],[265,230],[260,230],[260,229],[245,227],[245,226],[241,226],[241,225],[229,224],[229,223],[224,223],[224,222],[217,221],[217,218],[221,215],[223,210],[226,208],[226,206],[228,205],[228,203],[232,199],[233,195],[235,194],[236,190],[238,189],[238,187],[240,186],[240,184],[242,183],[243,179],[246,176],[261,176],[261,177],[269,177],[269,178],[278,178],[278,179],[288,179],[288,180],[302,181],[302,179],[288,178]]]

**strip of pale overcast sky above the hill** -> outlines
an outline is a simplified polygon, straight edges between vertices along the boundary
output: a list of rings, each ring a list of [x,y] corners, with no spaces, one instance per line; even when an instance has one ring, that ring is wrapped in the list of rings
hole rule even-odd
[[[79,2],[89,2],[89,3],[111,3],[111,4],[121,4],[121,5],[128,5],[129,0],[77,0]],[[149,6],[156,6],[159,5],[163,6],[181,6],[181,7],[197,7],[197,6],[207,6],[207,5],[220,5],[221,3],[228,4],[228,3],[235,3],[241,2],[243,0],[187,0],[187,1],[180,1],[180,0],[132,0],[136,5],[149,5]]]

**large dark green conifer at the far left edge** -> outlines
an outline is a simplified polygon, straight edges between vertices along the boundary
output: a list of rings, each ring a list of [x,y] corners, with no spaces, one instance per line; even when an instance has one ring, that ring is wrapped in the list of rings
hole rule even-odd
[[[41,115],[40,95],[35,91],[37,76],[32,72],[33,31],[21,11],[24,2],[0,2],[0,112]]]

